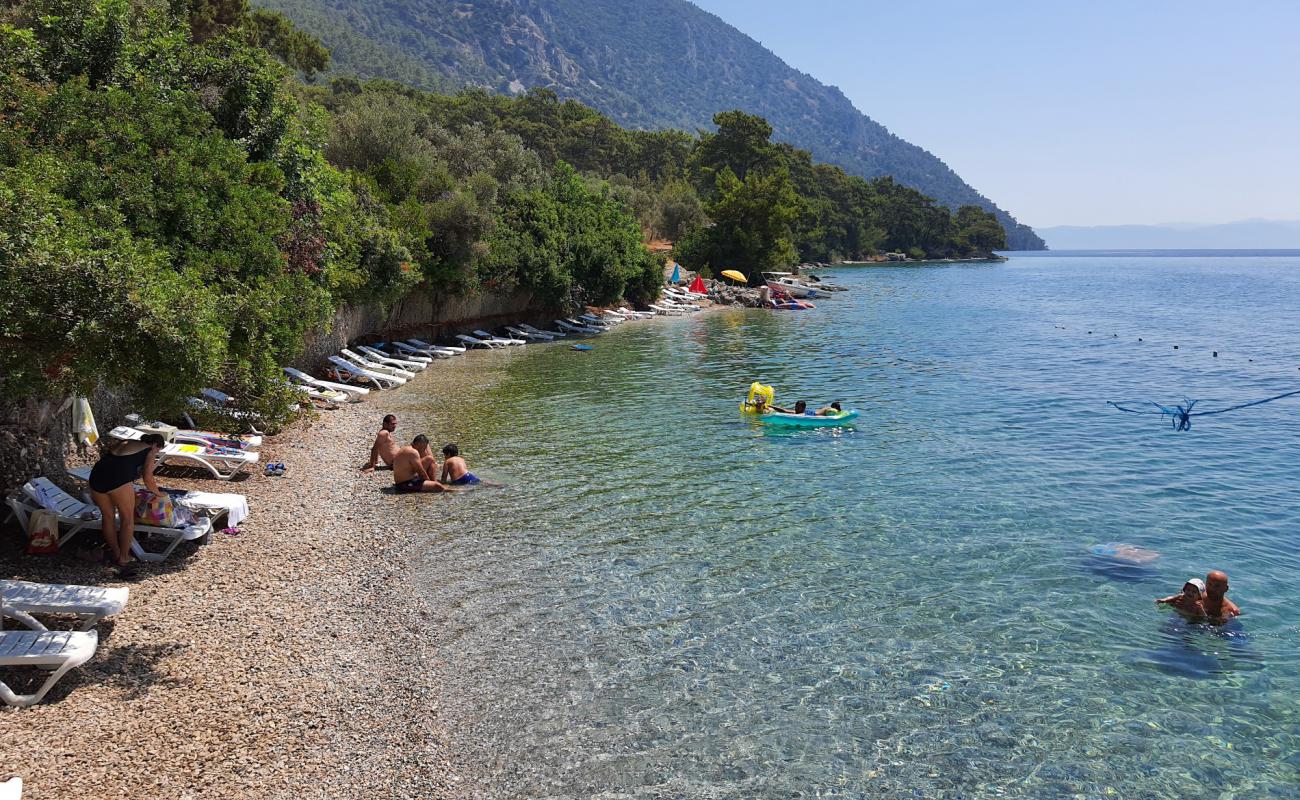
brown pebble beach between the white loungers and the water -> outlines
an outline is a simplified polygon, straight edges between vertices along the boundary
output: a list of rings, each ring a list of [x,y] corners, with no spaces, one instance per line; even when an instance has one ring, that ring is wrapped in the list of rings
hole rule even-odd
[[[5,537],[8,576],[131,596],[44,702],[0,710],[0,779],[21,777],[30,800],[473,796],[432,700],[437,653],[408,602],[413,542],[398,523],[448,498],[394,497],[389,472],[359,467],[384,414],[452,382],[471,390],[489,375],[478,358],[491,354],[269,437],[261,463],[283,462],[283,477],[160,471],[164,487],[246,494],[251,515],[238,535],[142,565],[136,581],[70,553],[26,557]]]

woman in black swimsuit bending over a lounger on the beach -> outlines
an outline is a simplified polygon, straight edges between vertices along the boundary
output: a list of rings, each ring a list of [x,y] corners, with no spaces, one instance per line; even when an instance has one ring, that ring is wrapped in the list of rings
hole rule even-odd
[[[104,541],[124,576],[133,572],[131,541],[135,539],[135,479],[144,477],[144,488],[160,494],[153,480],[153,462],[166,444],[157,433],[146,433],[139,441],[109,447],[90,471],[90,496],[99,506]]]

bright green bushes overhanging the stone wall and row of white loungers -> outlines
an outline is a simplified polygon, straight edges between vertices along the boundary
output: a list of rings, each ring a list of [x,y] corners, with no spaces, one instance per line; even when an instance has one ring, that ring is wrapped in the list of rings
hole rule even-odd
[[[326,61],[242,1],[0,9],[8,402],[105,385],[162,414],[220,385],[276,415],[278,366],[341,304],[421,281],[555,303],[658,284],[608,187],[386,92],[326,112],[286,64]],[[528,258],[512,251],[537,232]]]

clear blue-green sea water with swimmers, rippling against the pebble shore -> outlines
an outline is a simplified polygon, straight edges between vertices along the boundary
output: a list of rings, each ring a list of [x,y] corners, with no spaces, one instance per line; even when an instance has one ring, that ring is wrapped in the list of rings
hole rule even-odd
[[[1300,388],[1300,259],[835,277],[485,354],[486,395],[430,410],[511,483],[416,527],[489,793],[1300,797],[1300,398],[1188,433],[1105,406]],[[859,424],[748,424],[755,379]],[[1153,605],[1209,568],[1239,623]]]

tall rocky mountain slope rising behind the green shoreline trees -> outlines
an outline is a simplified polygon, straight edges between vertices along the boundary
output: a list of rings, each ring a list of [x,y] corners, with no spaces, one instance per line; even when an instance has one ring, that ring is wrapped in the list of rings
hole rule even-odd
[[[900,139],[832,86],[685,0],[255,0],[330,48],[334,72],[439,91],[554,90],[627,127],[711,129],[740,108],[775,138],[845,170],[896,181],[945,206],[994,212],[1017,250],[1032,229],[930,152]],[[872,65],[881,81],[900,65]],[[942,113],[936,109],[936,113]]]

